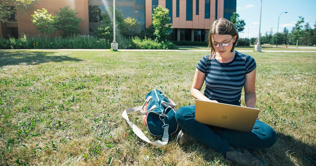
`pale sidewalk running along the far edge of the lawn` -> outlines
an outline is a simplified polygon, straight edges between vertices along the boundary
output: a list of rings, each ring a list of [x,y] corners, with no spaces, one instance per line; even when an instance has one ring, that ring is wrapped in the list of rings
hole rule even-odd
[[[0,51],[110,51],[110,49],[6,49],[6,50],[0,50]],[[132,49],[119,49],[120,51],[154,51],[154,52],[210,52],[210,50],[132,50]],[[253,50],[236,50],[238,52],[254,52]],[[289,50],[265,50],[262,52],[316,52],[316,51],[289,51]]]

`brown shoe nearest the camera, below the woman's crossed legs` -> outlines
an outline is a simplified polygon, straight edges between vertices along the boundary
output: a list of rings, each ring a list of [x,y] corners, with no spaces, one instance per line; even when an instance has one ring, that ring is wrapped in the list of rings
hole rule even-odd
[[[241,165],[249,166],[266,166],[267,163],[258,157],[255,157],[247,149],[234,148],[232,146],[228,147],[226,152],[225,161],[229,164],[239,163]]]

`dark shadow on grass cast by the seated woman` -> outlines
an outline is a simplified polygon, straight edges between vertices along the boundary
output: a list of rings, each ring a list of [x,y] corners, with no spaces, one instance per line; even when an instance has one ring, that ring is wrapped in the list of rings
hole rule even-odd
[[[264,158],[268,165],[316,165],[316,147],[310,144],[302,143],[290,135],[283,133],[277,134],[277,142],[271,148],[255,150],[259,158]],[[302,148],[303,147],[303,148]],[[186,153],[197,152],[203,156],[207,162],[221,160],[225,163],[224,157],[205,146],[200,142],[192,142],[181,145],[181,149]],[[301,151],[304,149],[305,151]],[[291,158],[294,159],[291,160]],[[295,161],[295,163],[293,163]]]

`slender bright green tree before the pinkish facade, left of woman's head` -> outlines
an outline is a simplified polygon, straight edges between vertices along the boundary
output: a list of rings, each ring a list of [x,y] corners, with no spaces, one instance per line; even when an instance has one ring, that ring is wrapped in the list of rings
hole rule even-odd
[[[153,26],[155,28],[154,35],[156,36],[155,41],[166,41],[169,36],[168,31],[172,30],[172,24],[167,24],[170,21],[170,17],[168,16],[169,10],[159,5],[156,9],[154,9],[154,14],[152,15]]]

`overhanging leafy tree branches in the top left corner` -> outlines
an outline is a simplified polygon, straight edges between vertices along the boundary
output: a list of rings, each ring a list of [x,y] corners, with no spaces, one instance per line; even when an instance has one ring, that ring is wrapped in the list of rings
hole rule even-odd
[[[38,0],[0,0],[0,21],[8,22],[8,18],[16,10],[25,13],[25,10],[33,7],[33,3],[38,2]],[[15,6],[13,11],[10,6]]]

